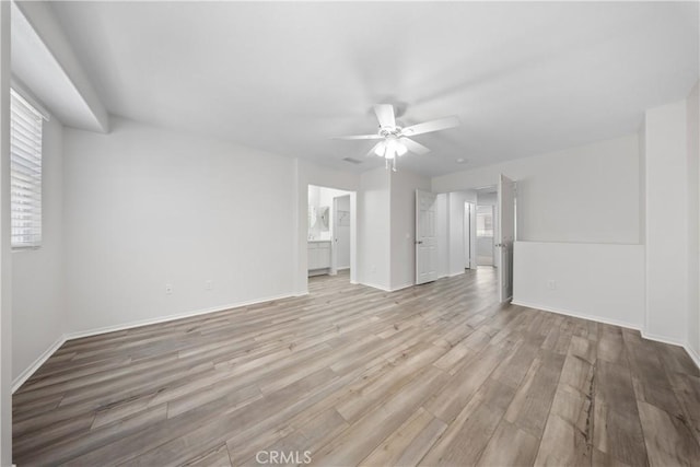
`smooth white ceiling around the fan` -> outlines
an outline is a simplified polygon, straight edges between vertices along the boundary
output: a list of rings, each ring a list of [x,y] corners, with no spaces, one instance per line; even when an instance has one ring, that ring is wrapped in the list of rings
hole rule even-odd
[[[697,2],[52,8],[112,114],[353,171],[372,142],[330,138],[374,132],[376,103],[459,116],[399,160],[439,175],[633,132],[699,75]]]

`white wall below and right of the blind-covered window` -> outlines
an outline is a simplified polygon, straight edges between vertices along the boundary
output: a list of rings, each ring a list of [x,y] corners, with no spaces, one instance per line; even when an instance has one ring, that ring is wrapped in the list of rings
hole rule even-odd
[[[12,253],[12,377],[60,343],[66,328],[62,245],[62,126],[43,126],[42,247]],[[16,384],[16,383],[15,383]]]

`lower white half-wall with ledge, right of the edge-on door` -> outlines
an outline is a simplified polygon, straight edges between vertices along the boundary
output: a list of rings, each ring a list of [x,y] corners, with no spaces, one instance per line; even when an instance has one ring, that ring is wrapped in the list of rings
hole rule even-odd
[[[515,242],[514,248],[513,303],[642,327],[643,245]]]

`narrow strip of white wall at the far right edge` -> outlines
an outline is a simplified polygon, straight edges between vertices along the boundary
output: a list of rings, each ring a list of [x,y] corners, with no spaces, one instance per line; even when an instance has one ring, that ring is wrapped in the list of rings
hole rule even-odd
[[[688,347],[700,362],[700,81],[688,95]]]

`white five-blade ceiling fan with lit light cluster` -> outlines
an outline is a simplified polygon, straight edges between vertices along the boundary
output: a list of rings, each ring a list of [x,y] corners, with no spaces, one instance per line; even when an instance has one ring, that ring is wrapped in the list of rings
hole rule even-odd
[[[430,152],[430,149],[413,141],[412,139],[409,139],[408,137],[459,126],[459,119],[453,116],[411,125],[410,127],[400,127],[396,122],[394,106],[392,104],[377,104],[374,106],[374,113],[376,114],[377,120],[380,120],[380,130],[375,135],[337,137],[336,139],[382,140],[377,142],[366,155],[370,156],[372,154],[376,154],[380,157],[384,157],[386,161],[386,168],[389,167],[390,161],[392,170],[394,172],[396,172],[396,159],[406,154],[406,152],[410,151],[416,154],[425,154]]]

